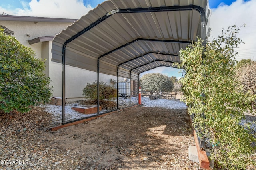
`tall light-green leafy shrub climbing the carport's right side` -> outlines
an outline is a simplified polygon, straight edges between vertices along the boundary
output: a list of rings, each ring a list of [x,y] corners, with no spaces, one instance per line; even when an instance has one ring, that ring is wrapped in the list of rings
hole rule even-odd
[[[255,96],[244,93],[234,79],[237,53],[234,47],[242,43],[236,37],[235,26],[223,30],[212,42],[202,45],[194,42],[180,51],[180,68],[185,68],[180,79],[185,98],[183,101],[199,130],[212,149],[218,169],[246,169],[256,165],[250,155],[255,152],[256,138],[250,127],[240,124],[244,112],[252,111]]]

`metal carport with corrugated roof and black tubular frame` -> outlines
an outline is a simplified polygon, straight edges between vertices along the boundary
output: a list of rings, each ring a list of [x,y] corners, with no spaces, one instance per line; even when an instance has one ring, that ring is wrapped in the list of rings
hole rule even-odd
[[[208,0],[108,0],[56,35],[52,61],[128,79],[180,62],[180,49],[210,34]],[[99,113],[99,102],[98,102]]]

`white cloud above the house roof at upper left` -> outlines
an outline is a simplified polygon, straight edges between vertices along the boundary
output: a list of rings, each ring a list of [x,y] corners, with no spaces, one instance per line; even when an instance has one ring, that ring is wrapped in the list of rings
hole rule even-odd
[[[0,12],[17,16],[40,16],[53,18],[79,19],[93,8],[84,6],[82,0],[31,0],[30,3],[22,1],[23,9],[8,10],[0,8]]]

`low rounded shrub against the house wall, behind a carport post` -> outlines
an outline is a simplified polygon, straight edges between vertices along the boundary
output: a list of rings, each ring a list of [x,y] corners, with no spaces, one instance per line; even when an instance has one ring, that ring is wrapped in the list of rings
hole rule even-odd
[[[104,82],[100,82],[99,86],[100,86],[99,88],[100,102],[104,101],[105,99],[111,100],[112,98],[117,96],[117,90],[111,85],[107,85]],[[96,81],[86,84],[86,87],[83,89],[83,96],[85,98],[92,99],[94,103],[98,102]]]

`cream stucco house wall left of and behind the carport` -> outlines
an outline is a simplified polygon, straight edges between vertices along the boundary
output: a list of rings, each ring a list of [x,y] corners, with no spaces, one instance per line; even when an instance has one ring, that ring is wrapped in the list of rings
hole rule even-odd
[[[58,20],[61,22],[58,22]],[[53,87],[52,94],[55,97],[62,96],[62,64],[51,61],[52,39],[74,21],[75,19],[0,15],[0,26],[13,31],[14,34],[11,36],[14,36],[23,45],[33,49],[36,53],[35,57],[45,62],[45,74],[51,79],[49,86]],[[47,38],[40,39],[45,37]],[[96,79],[97,73],[95,72],[66,66],[65,97],[68,98],[68,101],[83,99],[82,89],[84,89],[86,83],[96,81]],[[111,79],[117,78],[100,74],[100,81],[111,84]]]

